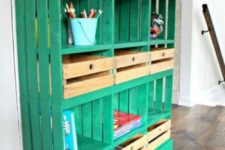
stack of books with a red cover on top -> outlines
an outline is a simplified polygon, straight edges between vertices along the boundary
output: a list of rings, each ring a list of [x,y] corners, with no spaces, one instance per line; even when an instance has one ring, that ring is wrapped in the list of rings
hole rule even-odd
[[[114,112],[114,139],[141,126],[141,117],[119,111]]]

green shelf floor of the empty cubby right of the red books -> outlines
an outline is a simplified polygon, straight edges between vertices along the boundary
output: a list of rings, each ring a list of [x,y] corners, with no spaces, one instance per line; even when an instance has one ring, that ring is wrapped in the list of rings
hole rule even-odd
[[[168,119],[171,117],[171,112],[149,112],[150,116],[148,117],[148,126],[159,122],[162,119]]]

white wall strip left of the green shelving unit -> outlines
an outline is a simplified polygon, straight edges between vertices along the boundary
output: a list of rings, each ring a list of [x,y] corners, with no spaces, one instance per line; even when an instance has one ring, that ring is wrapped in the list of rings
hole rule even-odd
[[[15,80],[12,2],[0,0],[0,149],[21,149]]]

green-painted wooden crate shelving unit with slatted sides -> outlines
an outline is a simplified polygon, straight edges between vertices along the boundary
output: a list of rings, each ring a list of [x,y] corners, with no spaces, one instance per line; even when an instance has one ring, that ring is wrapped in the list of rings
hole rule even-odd
[[[175,0],[72,0],[77,12],[102,9],[96,45],[67,44],[68,0],[16,0],[20,101],[24,150],[62,150],[62,112],[75,113],[79,150],[113,149],[171,117],[173,70],[63,98],[62,57],[91,53],[114,57],[118,49],[148,52],[174,47]],[[165,32],[149,38],[151,12],[165,16]],[[37,33],[37,34],[36,34]],[[114,71],[115,72],[115,71]],[[138,114],[143,125],[113,140],[113,111]],[[172,139],[158,149],[172,149]]]

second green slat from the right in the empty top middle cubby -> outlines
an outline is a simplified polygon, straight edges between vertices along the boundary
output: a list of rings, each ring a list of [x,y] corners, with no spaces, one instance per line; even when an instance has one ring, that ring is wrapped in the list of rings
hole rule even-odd
[[[130,1],[130,42],[139,41],[139,32],[140,32],[140,7],[139,0]],[[148,19],[146,19],[148,20]]]

